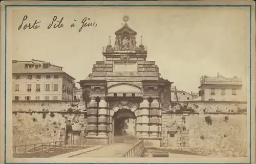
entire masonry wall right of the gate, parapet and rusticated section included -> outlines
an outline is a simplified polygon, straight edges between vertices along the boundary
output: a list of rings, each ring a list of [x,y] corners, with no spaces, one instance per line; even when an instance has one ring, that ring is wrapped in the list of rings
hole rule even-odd
[[[247,156],[245,103],[193,102],[181,106],[193,108],[197,113],[163,112],[163,147],[168,147],[167,127],[179,126],[173,148],[220,157]]]

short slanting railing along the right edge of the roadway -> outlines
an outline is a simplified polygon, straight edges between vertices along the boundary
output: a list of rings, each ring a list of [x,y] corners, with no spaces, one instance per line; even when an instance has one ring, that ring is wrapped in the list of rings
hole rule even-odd
[[[136,143],[134,145],[134,147],[132,147],[132,149],[130,149],[129,151],[127,151],[126,153],[124,153],[122,155],[122,157],[140,157],[143,153],[144,150],[144,140],[140,140],[138,143]]]

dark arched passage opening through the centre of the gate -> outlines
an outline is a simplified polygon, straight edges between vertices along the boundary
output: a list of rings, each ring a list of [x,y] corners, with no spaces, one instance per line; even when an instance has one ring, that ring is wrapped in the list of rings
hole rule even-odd
[[[136,116],[129,109],[119,109],[113,115],[114,143],[131,143],[136,140]]]

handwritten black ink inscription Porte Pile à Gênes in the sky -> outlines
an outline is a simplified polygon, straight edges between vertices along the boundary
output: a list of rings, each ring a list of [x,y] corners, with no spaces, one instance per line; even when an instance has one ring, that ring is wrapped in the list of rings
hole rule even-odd
[[[38,21],[37,19],[35,19],[32,22],[28,21],[28,16],[25,15],[18,27],[18,30],[30,30],[30,29],[36,30],[40,28],[40,23],[41,21]],[[76,24],[77,24],[77,20],[74,19],[74,22],[70,25],[70,28],[76,27]],[[81,32],[82,29],[86,27],[96,28],[98,26],[98,23],[96,21],[91,21],[91,18],[86,16],[81,20],[81,24],[79,26],[80,28],[78,32]],[[64,17],[58,18],[57,16],[54,16],[51,19],[50,24],[48,24],[47,29],[60,29],[63,27],[64,27]]]

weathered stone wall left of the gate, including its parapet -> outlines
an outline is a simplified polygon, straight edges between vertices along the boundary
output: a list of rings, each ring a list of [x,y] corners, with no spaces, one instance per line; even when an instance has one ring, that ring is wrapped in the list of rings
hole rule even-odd
[[[13,145],[63,141],[67,125],[84,132],[77,102],[13,102]]]

